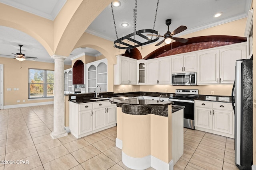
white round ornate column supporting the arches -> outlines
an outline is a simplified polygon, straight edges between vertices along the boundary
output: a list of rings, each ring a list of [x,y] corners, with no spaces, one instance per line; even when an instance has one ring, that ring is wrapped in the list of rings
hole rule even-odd
[[[64,128],[64,60],[65,56],[52,55],[54,59],[54,108],[53,108],[53,131],[51,137],[57,139],[68,135]]]

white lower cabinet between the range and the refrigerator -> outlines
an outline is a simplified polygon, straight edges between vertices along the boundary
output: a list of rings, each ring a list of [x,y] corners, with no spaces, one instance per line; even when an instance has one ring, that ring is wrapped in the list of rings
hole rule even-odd
[[[232,104],[196,100],[195,129],[234,138]]]

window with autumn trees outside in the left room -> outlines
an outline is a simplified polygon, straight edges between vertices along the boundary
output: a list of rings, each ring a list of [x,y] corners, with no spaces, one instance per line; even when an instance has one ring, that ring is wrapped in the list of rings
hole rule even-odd
[[[54,71],[29,68],[28,98],[53,97]]]

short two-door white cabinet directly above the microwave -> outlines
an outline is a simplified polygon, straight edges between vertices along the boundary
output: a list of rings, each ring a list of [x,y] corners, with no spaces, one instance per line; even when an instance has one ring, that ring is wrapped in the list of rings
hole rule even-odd
[[[172,73],[196,72],[197,54],[178,55],[172,57]]]

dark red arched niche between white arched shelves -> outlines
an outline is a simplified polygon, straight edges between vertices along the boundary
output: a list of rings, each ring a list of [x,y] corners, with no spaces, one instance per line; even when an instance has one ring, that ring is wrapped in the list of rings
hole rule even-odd
[[[81,60],[73,65],[73,84],[84,84],[84,63]]]

